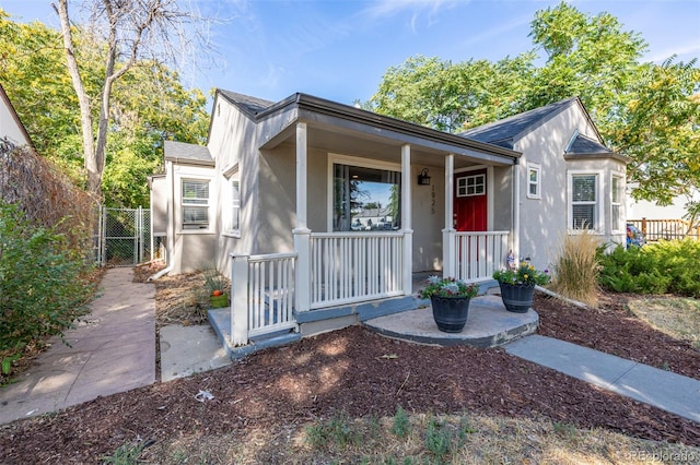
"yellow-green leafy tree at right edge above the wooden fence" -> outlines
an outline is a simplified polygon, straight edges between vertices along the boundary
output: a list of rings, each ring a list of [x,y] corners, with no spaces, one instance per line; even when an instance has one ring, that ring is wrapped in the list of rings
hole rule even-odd
[[[700,69],[697,60],[643,65],[632,98],[612,127],[616,147],[632,157],[628,177],[637,199],[670,204],[687,199],[687,218],[700,213]]]

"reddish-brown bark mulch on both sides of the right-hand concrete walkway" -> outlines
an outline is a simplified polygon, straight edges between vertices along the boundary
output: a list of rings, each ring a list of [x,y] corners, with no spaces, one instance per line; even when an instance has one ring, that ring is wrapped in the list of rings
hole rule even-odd
[[[582,311],[537,297],[540,334],[698,378],[700,353],[610,305]],[[209,391],[213,400],[197,402]],[[223,369],[102,397],[0,427],[3,463],[94,463],[139,437],[289,428],[335,413],[408,412],[548,418],[700,446],[700,425],[512,357],[502,349],[430,347],[361,326],[268,349]]]

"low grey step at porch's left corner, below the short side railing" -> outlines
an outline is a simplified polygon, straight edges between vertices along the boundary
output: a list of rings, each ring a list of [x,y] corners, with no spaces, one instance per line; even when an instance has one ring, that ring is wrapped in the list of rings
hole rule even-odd
[[[248,345],[234,347],[231,345],[231,309],[211,309],[208,311],[209,323],[217,333],[219,343],[223,346],[226,355],[232,360],[241,359],[255,351],[268,347],[279,347],[295,343],[302,338],[301,334],[290,331],[278,331],[269,334],[261,334],[250,339]]]

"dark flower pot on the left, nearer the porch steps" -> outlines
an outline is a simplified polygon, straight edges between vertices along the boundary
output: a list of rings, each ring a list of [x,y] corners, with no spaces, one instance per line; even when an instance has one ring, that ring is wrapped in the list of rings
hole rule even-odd
[[[438,329],[445,333],[459,333],[467,322],[469,301],[479,287],[454,277],[430,276],[418,291],[421,299],[430,299]]]

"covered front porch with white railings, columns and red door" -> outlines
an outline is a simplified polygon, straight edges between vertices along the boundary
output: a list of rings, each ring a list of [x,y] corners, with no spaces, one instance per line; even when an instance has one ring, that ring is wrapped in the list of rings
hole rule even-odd
[[[293,194],[293,250],[230,254],[234,346],[279,332],[311,335],[354,324],[365,318],[358,309],[375,309],[372,318],[416,309],[424,305],[415,297],[416,273],[482,283],[505,265],[509,251],[517,253],[518,154],[401,121],[357,120],[347,107],[339,116],[325,108],[334,105],[327,102],[312,104],[313,111],[300,107],[296,122],[260,146],[272,174],[289,155],[295,160],[293,186],[277,187]],[[291,166],[284,167],[282,184]],[[392,219],[380,229],[357,228],[348,201],[352,175],[378,171],[392,179]],[[429,172],[438,174],[432,182]],[[477,195],[483,219],[465,228],[469,223],[460,216],[475,213],[455,203]]]

